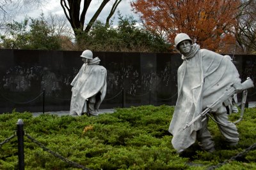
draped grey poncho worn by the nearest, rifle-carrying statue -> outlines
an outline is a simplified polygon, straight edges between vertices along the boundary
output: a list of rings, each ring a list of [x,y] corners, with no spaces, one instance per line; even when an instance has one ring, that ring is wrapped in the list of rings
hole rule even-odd
[[[236,66],[227,57],[200,49],[194,44],[188,56],[178,69],[178,98],[170,123],[169,132],[173,134],[172,145],[177,151],[185,150],[196,141],[196,131],[202,122],[183,127],[236,81],[241,81]]]

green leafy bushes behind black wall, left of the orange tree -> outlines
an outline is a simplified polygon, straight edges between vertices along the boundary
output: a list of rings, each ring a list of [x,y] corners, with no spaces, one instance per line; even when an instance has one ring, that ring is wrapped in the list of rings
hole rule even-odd
[[[89,32],[73,36],[55,16],[26,17],[7,24],[8,34],[1,36],[1,48],[33,50],[84,50],[115,52],[168,52],[170,45],[158,36],[136,27],[132,17],[118,17],[118,25],[106,26],[95,21]],[[62,29],[61,29],[62,27]],[[59,31],[58,31],[59,30]]]

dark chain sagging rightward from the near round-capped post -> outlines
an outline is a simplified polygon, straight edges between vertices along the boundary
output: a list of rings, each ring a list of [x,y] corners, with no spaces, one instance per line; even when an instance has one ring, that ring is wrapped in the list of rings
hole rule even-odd
[[[74,167],[78,167],[84,170],[91,170],[88,169],[80,164],[77,164],[76,162],[73,162],[72,160],[68,160],[65,157],[61,156],[60,154],[53,152],[52,150],[50,150],[49,148],[45,147],[42,143],[40,143],[39,141],[37,141],[35,138],[32,138],[31,136],[29,136],[29,134],[24,134],[25,136],[27,136],[33,143],[35,143],[36,145],[40,146],[44,151],[51,153],[52,155],[54,155],[54,157],[57,157],[58,159],[63,160],[64,162],[67,162],[68,164],[74,166]]]

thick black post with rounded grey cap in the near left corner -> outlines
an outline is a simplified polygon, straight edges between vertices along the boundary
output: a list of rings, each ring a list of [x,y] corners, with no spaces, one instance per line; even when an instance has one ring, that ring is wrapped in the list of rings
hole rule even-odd
[[[23,121],[19,119],[17,122],[17,137],[18,137],[18,156],[19,156],[19,170],[24,170],[24,131]]]

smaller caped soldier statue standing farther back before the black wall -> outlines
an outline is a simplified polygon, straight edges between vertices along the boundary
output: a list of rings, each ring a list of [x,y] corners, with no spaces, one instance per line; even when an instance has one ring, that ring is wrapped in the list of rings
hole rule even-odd
[[[99,106],[106,96],[107,71],[99,66],[100,59],[95,57],[91,50],[84,50],[80,55],[83,57],[83,66],[72,81],[72,98],[70,103],[70,115],[88,116],[99,115]]]

